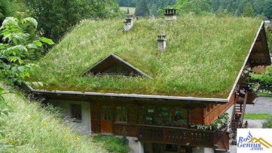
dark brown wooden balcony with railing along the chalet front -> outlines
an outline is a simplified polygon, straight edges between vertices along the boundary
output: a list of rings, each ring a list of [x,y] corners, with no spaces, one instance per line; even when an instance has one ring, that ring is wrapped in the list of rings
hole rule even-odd
[[[215,149],[226,131],[226,129],[217,131],[202,131],[181,127],[115,123],[114,134],[122,135],[124,128],[126,129],[128,136],[134,135],[142,142],[212,147]]]

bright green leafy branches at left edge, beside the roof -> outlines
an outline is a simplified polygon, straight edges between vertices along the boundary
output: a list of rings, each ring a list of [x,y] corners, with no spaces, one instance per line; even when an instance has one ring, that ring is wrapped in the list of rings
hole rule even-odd
[[[21,84],[26,77],[30,77],[33,67],[29,63],[36,60],[43,51],[43,45],[53,45],[54,42],[47,38],[36,38],[33,32],[38,23],[31,17],[18,20],[7,17],[0,28],[3,43],[0,44],[0,77],[12,79]]]

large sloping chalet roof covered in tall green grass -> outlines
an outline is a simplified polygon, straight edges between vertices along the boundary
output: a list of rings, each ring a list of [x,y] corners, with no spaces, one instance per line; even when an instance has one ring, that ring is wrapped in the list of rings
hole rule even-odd
[[[123,20],[87,20],[38,63],[31,80],[47,83],[48,90],[227,98],[260,24],[185,15],[176,22],[139,19],[124,32]],[[157,47],[160,33],[167,35],[164,52]],[[153,79],[80,76],[110,53]]]

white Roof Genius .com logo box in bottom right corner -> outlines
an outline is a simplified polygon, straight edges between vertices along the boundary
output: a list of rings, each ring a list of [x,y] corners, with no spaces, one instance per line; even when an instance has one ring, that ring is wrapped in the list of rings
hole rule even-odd
[[[238,129],[237,153],[272,153],[272,129]]]

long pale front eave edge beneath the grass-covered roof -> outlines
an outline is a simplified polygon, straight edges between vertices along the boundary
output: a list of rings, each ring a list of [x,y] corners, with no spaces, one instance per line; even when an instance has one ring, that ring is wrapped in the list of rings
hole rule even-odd
[[[215,103],[225,104],[228,99],[220,98],[202,98],[202,97],[176,97],[165,95],[138,95],[138,94],[116,94],[101,92],[77,92],[77,91],[60,91],[60,90],[38,90],[24,84],[24,88],[32,92],[34,95],[43,95],[49,99],[72,99],[91,100],[91,99],[130,99],[137,101],[159,101],[159,102],[179,102],[179,103]]]

